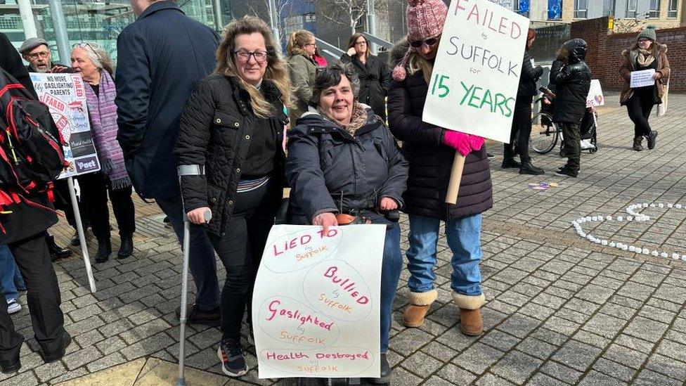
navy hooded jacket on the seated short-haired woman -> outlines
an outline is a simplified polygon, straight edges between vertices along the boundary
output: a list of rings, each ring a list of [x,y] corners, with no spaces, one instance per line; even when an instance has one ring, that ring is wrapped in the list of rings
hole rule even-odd
[[[311,224],[317,214],[340,207],[347,213],[372,210],[383,197],[403,206],[408,162],[384,122],[373,110],[367,113],[354,137],[316,110],[288,131],[291,224]]]

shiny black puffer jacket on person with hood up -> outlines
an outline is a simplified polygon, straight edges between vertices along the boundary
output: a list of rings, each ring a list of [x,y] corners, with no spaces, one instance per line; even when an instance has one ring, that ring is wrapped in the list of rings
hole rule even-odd
[[[590,70],[583,61],[586,57],[586,42],[583,39],[571,39],[562,46],[564,53],[569,53],[567,65],[555,61],[550,70],[555,74],[555,110],[552,118],[556,122],[581,123],[586,110],[586,97],[590,90]]]

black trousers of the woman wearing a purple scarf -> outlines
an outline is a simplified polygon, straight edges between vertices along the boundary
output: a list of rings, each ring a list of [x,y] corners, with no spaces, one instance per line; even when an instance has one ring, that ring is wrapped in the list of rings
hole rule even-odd
[[[78,177],[82,200],[86,204],[93,235],[98,240],[110,238],[110,209],[108,194],[112,200],[119,236],[129,237],[136,231],[134,200],[131,199],[131,186],[112,190],[110,179],[103,173],[89,173]]]

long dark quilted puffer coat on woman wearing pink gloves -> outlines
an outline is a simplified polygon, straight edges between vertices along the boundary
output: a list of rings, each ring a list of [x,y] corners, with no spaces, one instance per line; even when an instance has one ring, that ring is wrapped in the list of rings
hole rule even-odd
[[[407,51],[403,40],[391,51],[394,67]],[[403,141],[403,153],[410,162],[404,211],[436,219],[455,219],[479,214],[493,207],[491,169],[486,146],[467,155],[457,205],[446,204],[455,149],[442,144],[444,129],[422,122],[429,91],[421,71],[403,82],[391,80],[388,93],[388,122],[391,133]]]

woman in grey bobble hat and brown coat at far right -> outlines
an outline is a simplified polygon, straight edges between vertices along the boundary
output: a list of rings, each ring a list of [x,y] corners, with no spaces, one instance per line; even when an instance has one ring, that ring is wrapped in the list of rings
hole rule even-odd
[[[633,150],[643,150],[643,137],[648,140],[648,148],[655,147],[657,131],[650,128],[648,117],[654,105],[662,103],[665,86],[671,69],[667,59],[667,46],[657,42],[655,27],[649,26],[638,34],[638,41],[622,52],[619,74],[623,86],[619,96],[621,105],[626,106],[631,122],[634,124]],[[654,84],[631,88],[631,72],[655,70]]]

